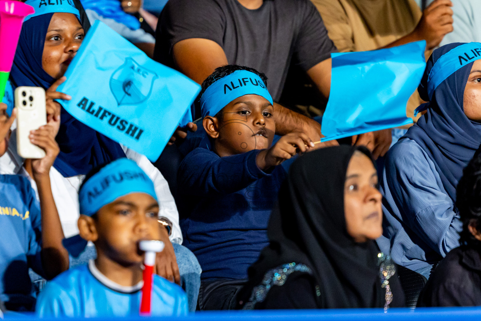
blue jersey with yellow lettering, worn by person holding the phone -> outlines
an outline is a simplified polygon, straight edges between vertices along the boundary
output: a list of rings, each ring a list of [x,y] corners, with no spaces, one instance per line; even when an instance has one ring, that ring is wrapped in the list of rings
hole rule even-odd
[[[40,207],[30,181],[0,175],[0,300],[7,309],[35,306],[28,268],[42,273]]]

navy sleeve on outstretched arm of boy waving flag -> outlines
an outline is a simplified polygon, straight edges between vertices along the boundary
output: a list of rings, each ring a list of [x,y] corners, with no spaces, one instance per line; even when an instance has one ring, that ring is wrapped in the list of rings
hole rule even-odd
[[[189,153],[178,171],[179,191],[188,195],[228,194],[269,175],[257,167],[260,150],[219,157],[204,148]]]

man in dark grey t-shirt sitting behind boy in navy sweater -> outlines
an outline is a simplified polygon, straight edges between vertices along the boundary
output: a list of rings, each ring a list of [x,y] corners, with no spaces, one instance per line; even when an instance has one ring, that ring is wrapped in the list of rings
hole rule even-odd
[[[266,74],[276,102],[291,62],[329,97],[330,53],[335,51],[309,0],[169,0],[159,17],[154,59],[198,83],[221,65],[252,67]],[[303,131],[313,141],[321,137],[319,123],[278,103],[274,117],[279,135]],[[386,131],[367,133],[357,143],[371,149],[381,145],[385,153],[391,137]],[[332,144],[337,142],[317,146]]]

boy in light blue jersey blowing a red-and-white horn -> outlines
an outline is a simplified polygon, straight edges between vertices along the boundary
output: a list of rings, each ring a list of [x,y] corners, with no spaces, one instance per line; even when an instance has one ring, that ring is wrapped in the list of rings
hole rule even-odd
[[[127,158],[88,175],[78,193],[79,247],[95,244],[97,258],[47,284],[37,301],[40,317],[139,315],[143,281],[142,240],[159,240],[159,204],[152,180]],[[154,275],[152,315],[188,313],[187,296],[175,283]]]

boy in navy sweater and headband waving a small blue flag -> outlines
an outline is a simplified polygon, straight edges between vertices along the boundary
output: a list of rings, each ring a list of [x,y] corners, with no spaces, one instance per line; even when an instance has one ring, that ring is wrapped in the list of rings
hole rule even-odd
[[[201,309],[235,306],[247,268],[268,243],[267,221],[285,177],[278,165],[314,147],[300,132],[271,146],[276,128],[266,80],[252,68],[225,65],[202,84],[208,140],[178,172],[184,245],[203,270]]]

